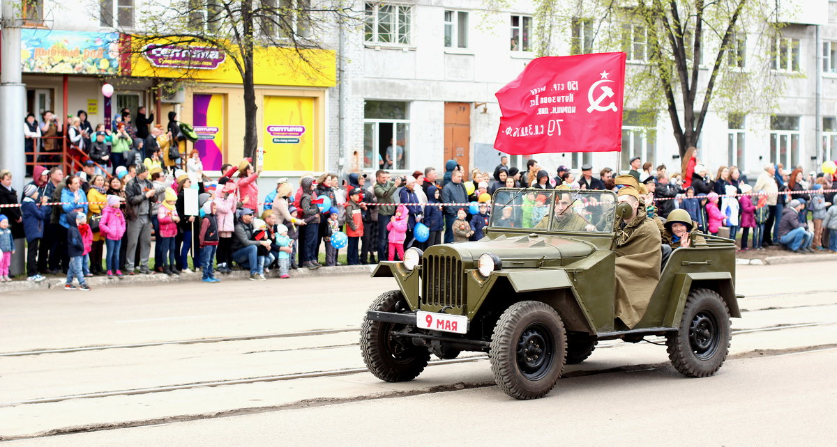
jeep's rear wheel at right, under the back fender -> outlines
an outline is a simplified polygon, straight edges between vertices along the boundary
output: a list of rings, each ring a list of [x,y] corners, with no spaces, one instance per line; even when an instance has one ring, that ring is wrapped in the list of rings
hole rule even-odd
[[[680,328],[665,344],[671,364],[686,377],[716,373],[727,359],[732,332],[730,312],[721,295],[709,289],[694,289],[686,298]]]

